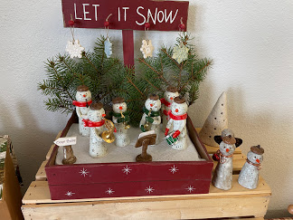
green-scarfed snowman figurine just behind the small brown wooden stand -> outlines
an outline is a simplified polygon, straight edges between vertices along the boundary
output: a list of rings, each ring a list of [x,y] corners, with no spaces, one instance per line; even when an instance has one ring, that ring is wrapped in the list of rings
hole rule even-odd
[[[156,144],[159,142],[160,124],[161,124],[161,100],[158,95],[151,94],[145,102],[143,108],[144,114],[140,120],[139,128],[143,131],[155,130]]]

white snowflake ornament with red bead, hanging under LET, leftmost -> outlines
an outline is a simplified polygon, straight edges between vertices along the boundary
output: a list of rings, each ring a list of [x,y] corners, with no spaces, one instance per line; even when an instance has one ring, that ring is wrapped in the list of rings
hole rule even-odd
[[[84,47],[80,45],[79,40],[74,39],[74,21],[72,19],[72,14],[71,14],[71,20],[68,22],[68,24],[71,26],[72,41],[67,42],[65,51],[71,55],[71,58],[74,58],[74,57],[81,58],[82,52],[84,51]]]

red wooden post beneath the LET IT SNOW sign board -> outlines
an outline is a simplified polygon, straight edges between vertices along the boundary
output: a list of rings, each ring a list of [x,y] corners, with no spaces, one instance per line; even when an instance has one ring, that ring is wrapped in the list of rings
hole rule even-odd
[[[132,30],[122,30],[124,65],[134,66],[134,41]]]

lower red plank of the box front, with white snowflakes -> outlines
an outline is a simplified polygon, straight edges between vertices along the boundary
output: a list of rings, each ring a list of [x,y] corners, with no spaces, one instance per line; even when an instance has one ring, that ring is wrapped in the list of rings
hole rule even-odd
[[[80,199],[122,196],[163,196],[209,193],[209,179],[178,181],[143,181],[102,184],[50,186],[51,198]],[[150,190],[148,191],[147,188]],[[110,191],[113,191],[109,194]],[[190,190],[188,190],[190,189]],[[71,196],[68,196],[71,192]]]

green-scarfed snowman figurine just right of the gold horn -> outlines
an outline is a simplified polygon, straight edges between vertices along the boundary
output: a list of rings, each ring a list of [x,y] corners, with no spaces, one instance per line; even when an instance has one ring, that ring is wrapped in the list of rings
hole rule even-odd
[[[128,122],[130,121],[130,118],[127,112],[127,103],[123,98],[118,97],[112,100],[112,104],[112,121],[115,124],[115,128],[117,129],[117,132],[114,133],[115,144],[118,147],[128,146],[130,143],[128,135],[128,129],[130,128]]]

